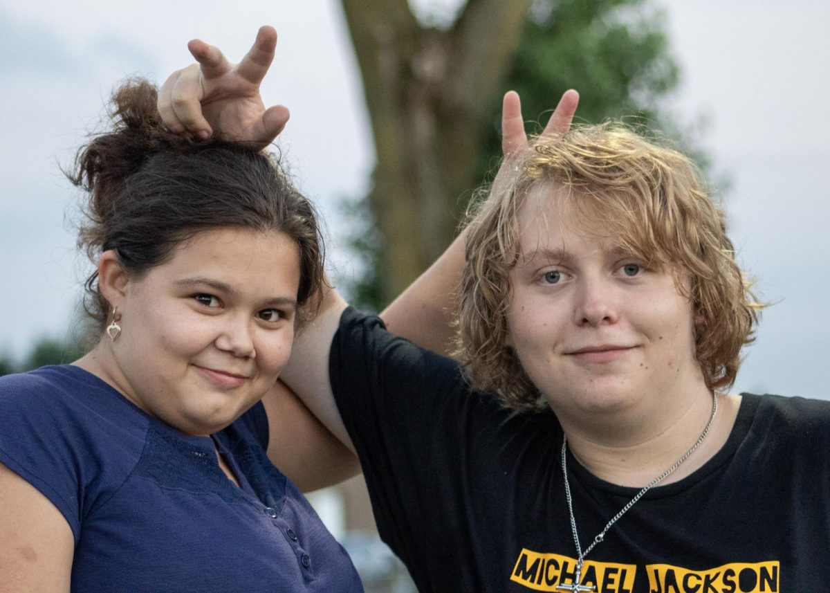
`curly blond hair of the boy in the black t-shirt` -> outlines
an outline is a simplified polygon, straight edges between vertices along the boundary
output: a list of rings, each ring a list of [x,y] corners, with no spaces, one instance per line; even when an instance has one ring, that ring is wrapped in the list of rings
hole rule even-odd
[[[572,211],[621,247],[676,274],[695,315],[696,360],[710,390],[728,389],[740,350],[754,340],[761,305],[735,262],[724,213],[696,165],[621,123],[586,125],[507,162],[468,217],[457,355],[471,385],[517,411],[547,409],[507,344],[510,271],[519,261],[518,214],[547,184]],[[683,288],[681,275],[691,282]]]

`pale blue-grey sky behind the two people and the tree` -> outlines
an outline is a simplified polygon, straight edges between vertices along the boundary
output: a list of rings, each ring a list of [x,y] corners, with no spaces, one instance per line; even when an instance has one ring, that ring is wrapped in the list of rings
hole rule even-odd
[[[682,69],[670,105],[683,122],[708,121],[702,144],[731,182],[725,201],[740,262],[774,302],[736,390],[830,399],[830,4],[652,2],[666,7]],[[334,204],[366,187],[374,149],[339,2],[245,7],[0,0],[0,351],[21,356],[37,336],[62,335],[80,295],[87,264],[64,219],[76,194],[57,165],[70,164],[116,81],[160,82],[189,63],[193,37],[237,61],[261,24],[276,27],[264,94],[291,109],[279,145],[329,220],[331,251],[343,252]],[[337,262],[349,273],[348,259]]]

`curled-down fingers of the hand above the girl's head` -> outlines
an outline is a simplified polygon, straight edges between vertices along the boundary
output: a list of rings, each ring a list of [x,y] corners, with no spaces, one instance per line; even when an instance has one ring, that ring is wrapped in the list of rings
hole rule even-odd
[[[198,64],[173,72],[159,91],[159,115],[164,125],[177,134],[189,131],[200,138],[210,138],[213,130],[202,115],[202,98]]]

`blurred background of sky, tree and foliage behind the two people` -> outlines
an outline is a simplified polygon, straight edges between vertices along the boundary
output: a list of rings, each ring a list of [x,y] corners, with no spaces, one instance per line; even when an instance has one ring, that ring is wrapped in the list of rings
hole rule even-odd
[[[0,373],[69,361],[89,263],[61,174],[125,76],[164,81],[193,37],[238,61],[280,39],[263,95],[277,147],[328,223],[332,274],[379,310],[449,243],[495,171],[500,96],[544,122],[624,117],[698,159],[764,312],[735,390],[828,399],[830,4],[820,0],[0,0]],[[359,480],[315,493],[368,591],[410,591]],[[368,534],[368,535],[367,535]]]

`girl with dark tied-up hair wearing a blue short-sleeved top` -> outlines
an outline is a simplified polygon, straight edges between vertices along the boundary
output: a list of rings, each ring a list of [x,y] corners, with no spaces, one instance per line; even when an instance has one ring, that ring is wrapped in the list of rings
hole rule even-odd
[[[120,88],[70,174],[99,341],[0,378],[0,591],[362,591],[286,478],[355,470],[275,386],[325,282],[314,209],[258,146],[173,134],[156,100]]]

